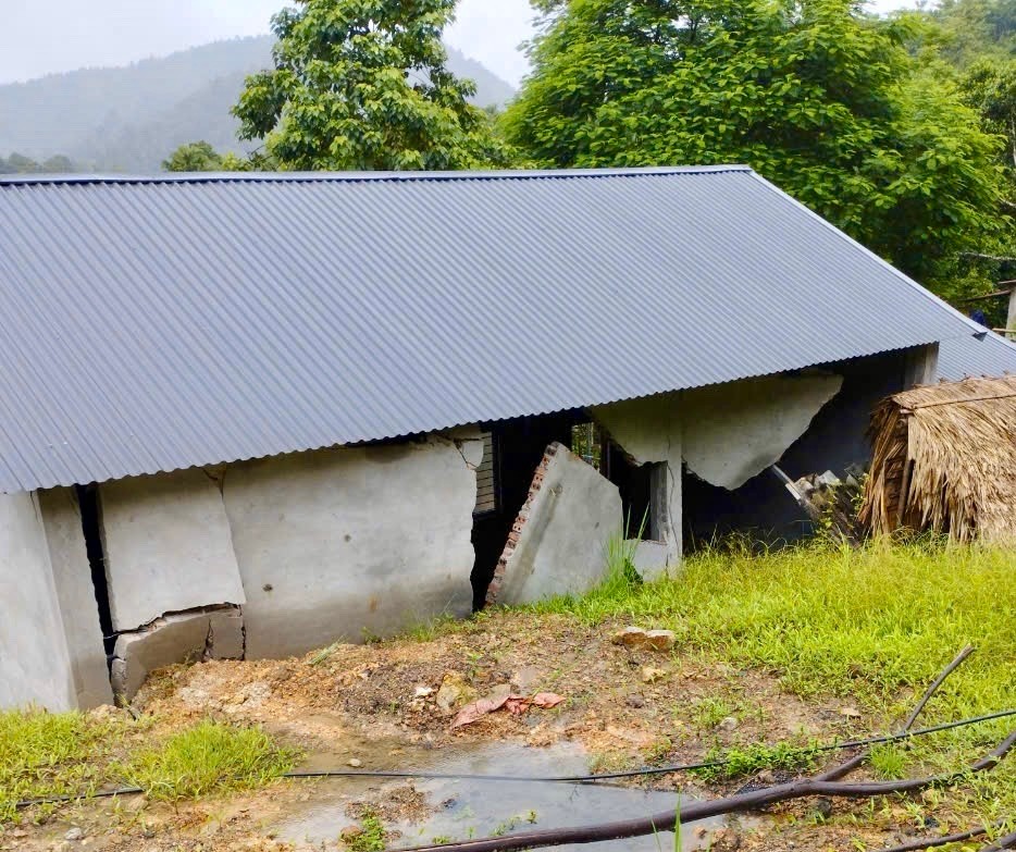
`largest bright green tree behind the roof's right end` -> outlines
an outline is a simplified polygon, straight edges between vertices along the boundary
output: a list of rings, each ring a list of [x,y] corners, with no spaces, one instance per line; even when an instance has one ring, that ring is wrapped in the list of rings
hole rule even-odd
[[[940,291],[999,227],[994,141],[851,0],[541,0],[504,127],[548,166],[744,162]]]

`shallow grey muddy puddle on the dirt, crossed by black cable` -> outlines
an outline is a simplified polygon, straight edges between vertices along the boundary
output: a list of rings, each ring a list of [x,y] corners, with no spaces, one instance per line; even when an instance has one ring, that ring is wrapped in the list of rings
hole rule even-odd
[[[337,756],[337,755],[336,755]],[[324,768],[325,760],[311,761],[311,767]],[[395,760],[384,761],[395,763]],[[435,751],[408,750],[397,763],[439,774],[499,776],[570,776],[590,771],[585,751],[571,743],[550,748],[524,745],[470,744]],[[333,762],[331,766],[336,766]],[[342,764],[338,764],[342,765]],[[364,768],[388,769],[388,766]],[[684,797],[685,801],[690,797]],[[339,834],[356,824],[355,815],[364,804],[382,816],[392,835],[389,849],[402,849],[437,841],[467,840],[495,834],[512,834],[531,828],[557,828],[628,819],[670,811],[678,794],[620,786],[573,783],[529,783],[517,781],[479,781],[470,779],[420,779],[377,781],[364,778],[327,779],[314,787],[313,801],[294,811],[273,826],[281,840],[323,849],[343,849]],[[407,806],[408,805],[408,806]],[[387,811],[387,814],[385,812]],[[387,817],[387,818],[386,818]],[[745,827],[745,820],[739,823]],[[683,850],[705,850],[711,835],[728,826],[723,818],[685,826]],[[557,847],[561,850],[610,852],[670,852],[673,835],[658,838]]]

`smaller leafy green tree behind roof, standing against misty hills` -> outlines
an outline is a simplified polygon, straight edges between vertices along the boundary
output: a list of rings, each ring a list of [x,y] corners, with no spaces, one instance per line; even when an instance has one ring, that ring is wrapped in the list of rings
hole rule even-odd
[[[446,66],[455,0],[299,0],[272,18],[275,67],[234,114],[283,169],[469,169],[504,163],[471,83]]]

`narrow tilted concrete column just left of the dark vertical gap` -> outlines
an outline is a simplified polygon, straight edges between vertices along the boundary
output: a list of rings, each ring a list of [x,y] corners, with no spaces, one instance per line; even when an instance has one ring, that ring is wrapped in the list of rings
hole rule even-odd
[[[38,501],[74,674],[76,705],[88,709],[111,704],[99,605],[77,496],[73,489],[50,489],[38,492]]]

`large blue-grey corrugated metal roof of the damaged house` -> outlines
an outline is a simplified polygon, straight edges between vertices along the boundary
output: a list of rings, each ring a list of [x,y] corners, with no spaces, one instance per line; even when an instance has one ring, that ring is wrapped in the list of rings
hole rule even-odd
[[[7,180],[0,490],[775,373],[957,316],[741,166]]]

